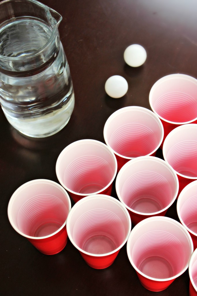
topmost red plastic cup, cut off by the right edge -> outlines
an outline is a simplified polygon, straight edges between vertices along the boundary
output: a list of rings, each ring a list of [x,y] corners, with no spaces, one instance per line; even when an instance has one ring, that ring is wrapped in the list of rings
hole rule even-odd
[[[152,86],[149,104],[162,121],[164,141],[174,128],[197,123],[197,80],[185,74],[164,76]]]

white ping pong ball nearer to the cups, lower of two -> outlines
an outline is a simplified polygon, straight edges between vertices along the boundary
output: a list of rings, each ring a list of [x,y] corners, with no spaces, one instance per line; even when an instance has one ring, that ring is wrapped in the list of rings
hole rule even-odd
[[[112,98],[121,98],[128,91],[128,83],[120,75],[111,76],[105,82],[105,91]]]

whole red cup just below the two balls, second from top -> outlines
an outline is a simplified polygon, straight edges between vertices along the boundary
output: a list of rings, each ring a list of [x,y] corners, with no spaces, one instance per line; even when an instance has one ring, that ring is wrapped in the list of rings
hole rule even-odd
[[[162,143],[161,120],[152,111],[129,106],[115,111],[104,126],[105,143],[113,149],[118,171],[129,160],[143,155],[155,155]]]

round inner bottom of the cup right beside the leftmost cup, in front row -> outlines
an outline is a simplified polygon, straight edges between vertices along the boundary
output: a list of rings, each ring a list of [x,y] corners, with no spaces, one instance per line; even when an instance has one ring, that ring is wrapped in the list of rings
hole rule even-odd
[[[105,254],[116,249],[112,239],[105,235],[95,235],[87,239],[83,250],[92,254]]]

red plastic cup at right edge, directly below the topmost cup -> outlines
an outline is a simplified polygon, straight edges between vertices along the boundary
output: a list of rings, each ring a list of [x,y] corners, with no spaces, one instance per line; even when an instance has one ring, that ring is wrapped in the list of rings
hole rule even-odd
[[[197,179],[197,124],[185,124],[171,131],[163,144],[165,161],[175,170],[179,192]]]

